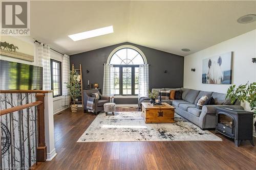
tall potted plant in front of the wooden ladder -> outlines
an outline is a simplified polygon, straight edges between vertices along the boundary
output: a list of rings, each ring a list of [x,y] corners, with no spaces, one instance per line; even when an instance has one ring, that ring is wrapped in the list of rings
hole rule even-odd
[[[69,82],[65,82],[67,88],[69,90],[68,94],[73,100],[73,105],[71,104],[71,112],[77,112],[77,104],[75,104],[76,98],[80,95],[80,85],[77,81],[78,73],[72,65],[72,69],[70,70],[70,78]]]

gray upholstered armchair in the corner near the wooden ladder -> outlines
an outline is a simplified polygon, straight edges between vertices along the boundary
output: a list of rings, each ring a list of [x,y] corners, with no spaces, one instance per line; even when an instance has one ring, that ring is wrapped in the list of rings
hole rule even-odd
[[[87,101],[88,98],[91,97],[92,93],[97,93],[99,90],[98,89],[91,89],[91,90],[83,90],[83,112],[85,113],[87,111]],[[96,99],[94,100],[94,114],[96,115],[98,112],[104,110],[103,105],[105,103],[110,102],[110,97],[108,96],[103,96],[100,94],[100,100]]]

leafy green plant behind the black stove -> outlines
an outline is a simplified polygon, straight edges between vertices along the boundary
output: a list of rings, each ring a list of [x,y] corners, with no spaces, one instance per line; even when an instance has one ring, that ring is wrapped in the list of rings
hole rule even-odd
[[[241,102],[248,102],[253,112],[253,117],[256,117],[256,82],[250,83],[247,82],[244,85],[238,86],[232,85],[227,90],[226,98],[230,98],[231,104],[236,102],[236,100],[240,100]],[[255,131],[256,131],[256,122],[254,123]]]

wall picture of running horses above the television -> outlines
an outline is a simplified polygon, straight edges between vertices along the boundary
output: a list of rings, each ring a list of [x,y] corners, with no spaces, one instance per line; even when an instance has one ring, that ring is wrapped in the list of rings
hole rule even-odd
[[[34,61],[34,44],[13,36],[1,36],[1,55]]]

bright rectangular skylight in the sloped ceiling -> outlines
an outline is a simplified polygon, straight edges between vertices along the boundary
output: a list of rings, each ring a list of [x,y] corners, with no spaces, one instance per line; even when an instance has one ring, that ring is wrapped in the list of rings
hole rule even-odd
[[[110,33],[113,33],[113,32],[114,32],[113,26],[109,26],[109,27],[103,27],[103,28],[96,29],[96,30],[86,31],[86,32],[77,33],[77,34],[72,34],[72,35],[69,35],[69,37],[73,41],[78,41],[78,40],[82,40],[82,39],[97,37],[97,36],[100,36],[100,35],[110,34]]]

